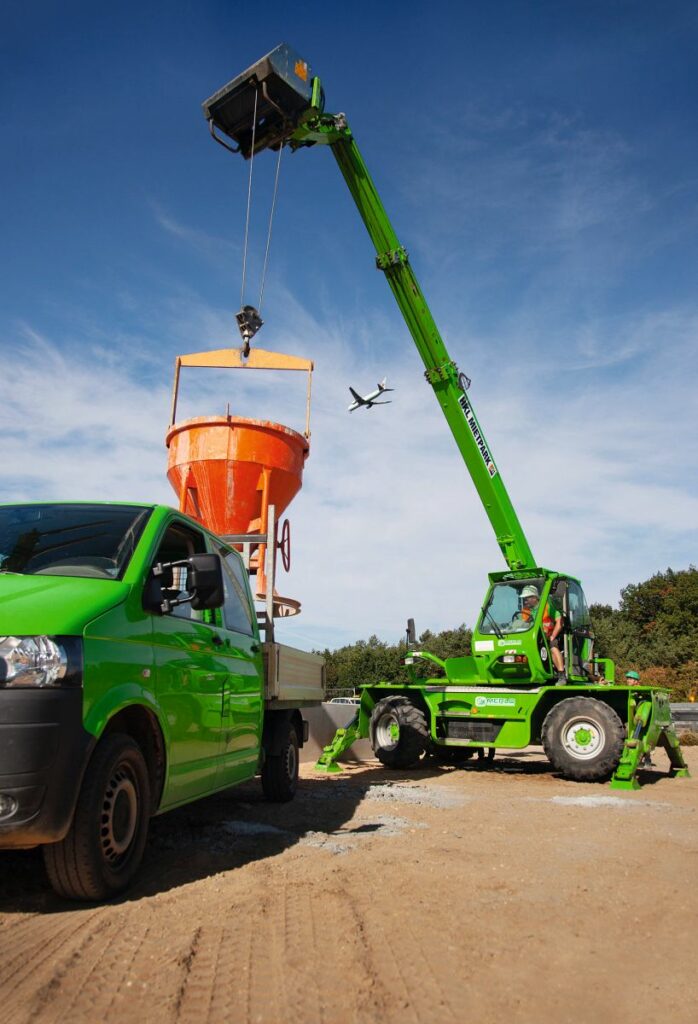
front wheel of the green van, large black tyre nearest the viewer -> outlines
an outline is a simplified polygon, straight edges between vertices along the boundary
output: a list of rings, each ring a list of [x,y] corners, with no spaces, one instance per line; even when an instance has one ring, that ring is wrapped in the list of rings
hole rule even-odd
[[[124,733],[105,736],[85,771],[68,835],[43,848],[58,895],[103,900],[123,892],[143,857],[149,808],[150,780],[140,748]]]

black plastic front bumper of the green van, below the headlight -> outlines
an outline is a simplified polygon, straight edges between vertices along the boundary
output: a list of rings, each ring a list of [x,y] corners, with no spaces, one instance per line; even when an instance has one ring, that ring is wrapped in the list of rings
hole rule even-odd
[[[71,825],[94,743],[81,687],[0,688],[0,849],[61,840]],[[0,806],[0,812],[2,807]]]

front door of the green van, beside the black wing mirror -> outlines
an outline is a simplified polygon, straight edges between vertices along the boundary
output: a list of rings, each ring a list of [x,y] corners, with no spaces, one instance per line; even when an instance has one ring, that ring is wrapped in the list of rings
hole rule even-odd
[[[202,532],[174,521],[158,547],[154,564],[206,550]],[[173,569],[172,584],[165,596],[187,593],[185,567]],[[155,685],[169,727],[162,807],[192,800],[219,784],[228,657],[215,614],[180,604],[167,614],[152,616]]]

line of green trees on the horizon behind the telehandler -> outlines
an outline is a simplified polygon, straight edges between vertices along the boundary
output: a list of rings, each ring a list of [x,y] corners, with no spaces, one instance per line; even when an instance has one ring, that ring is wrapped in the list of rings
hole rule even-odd
[[[617,608],[592,604],[596,653],[616,663],[616,679],[630,670],[642,682],[666,686],[674,700],[698,698],[698,569],[666,569],[620,592]],[[471,653],[472,630],[464,624],[452,630],[420,635],[419,644],[441,658]],[[402,660],[406,639],[390,644],[370,636],[337,650],[324,650],[330,696],[353,693],[361,684],[406,682]],[[417,662],[419,676],[438,676],[437,666]]]

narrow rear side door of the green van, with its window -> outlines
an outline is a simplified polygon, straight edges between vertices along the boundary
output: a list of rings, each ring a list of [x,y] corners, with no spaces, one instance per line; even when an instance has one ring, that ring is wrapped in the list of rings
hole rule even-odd
[[[223,684],[222,784],[257,771],[264,717],[264,676],[248,573],[237,552],[218,549],[225,602],[221,634],[228,658]]]

